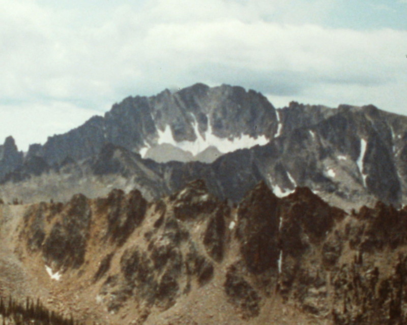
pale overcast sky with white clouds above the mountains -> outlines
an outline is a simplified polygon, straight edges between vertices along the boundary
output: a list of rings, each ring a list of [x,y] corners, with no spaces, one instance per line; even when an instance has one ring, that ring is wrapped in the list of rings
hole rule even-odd
[[[0,45],[0,143],[23,150],[196,82],[407,115],[407,0],[1,0]]]

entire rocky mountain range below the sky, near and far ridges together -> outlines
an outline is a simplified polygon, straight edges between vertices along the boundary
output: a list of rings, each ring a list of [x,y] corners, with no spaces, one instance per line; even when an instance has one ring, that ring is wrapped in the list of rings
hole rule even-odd
[[[407,117],[242,87],[0,146],[0,321],[407,323]]]

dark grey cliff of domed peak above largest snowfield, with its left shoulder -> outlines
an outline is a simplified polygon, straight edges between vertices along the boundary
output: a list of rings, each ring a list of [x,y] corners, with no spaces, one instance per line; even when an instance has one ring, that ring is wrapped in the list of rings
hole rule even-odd
[[[196,84],[150,98],[128,97],[104,117],[95,116],[67,134],[50,137],[43,146],[31,146],[27,156],[41,156],[52,165],[67,156],[80,160],[97,154],[106,143],[139,152],[160,144],[160,133],[167,126],[171,140],[179,143],[194,142],[209,128],[222,139],[242,134],[270,138],[277,124],[273,106],[253,90]]]

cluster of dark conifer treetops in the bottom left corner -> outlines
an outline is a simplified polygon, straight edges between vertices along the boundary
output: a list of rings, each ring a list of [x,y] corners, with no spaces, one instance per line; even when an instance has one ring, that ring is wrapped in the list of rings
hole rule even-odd
[[[39,299],[26,298],[17,302],[11,296],[0,296],[0,320],[3,325],[83,325],[72,317],[65,317],[47,309]]]

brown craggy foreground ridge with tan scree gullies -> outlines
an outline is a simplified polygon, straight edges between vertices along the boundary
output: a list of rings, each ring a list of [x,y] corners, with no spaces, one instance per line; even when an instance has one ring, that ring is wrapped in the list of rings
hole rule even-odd
[[[407,322],[405,208],[347,214],[264,182],[235,205],[198,180],[155,202],[114,189],[0,212],[1,294],[85,323]]]

